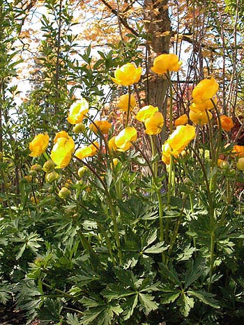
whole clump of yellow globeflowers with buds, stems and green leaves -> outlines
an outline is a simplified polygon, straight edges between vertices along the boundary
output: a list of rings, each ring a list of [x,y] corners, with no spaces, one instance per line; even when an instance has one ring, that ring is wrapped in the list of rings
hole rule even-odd
[[[4,207],[0,257],[1,301],[15,292],[29,321],[243,319],[244,147],[229,142],[234,123],[220,113],[213,77],[199,81],[174,125],[171,73],[180,68],[174,54],[153,65],[167,78],[167,120],[151,104],[137,108],[142,69],[126,63],[112,77],[128,88],[122,122],[95,120],[81,98],[68,112],[72,135],[57,132],[50,151],[47,133],[29,143],[17,213]]]

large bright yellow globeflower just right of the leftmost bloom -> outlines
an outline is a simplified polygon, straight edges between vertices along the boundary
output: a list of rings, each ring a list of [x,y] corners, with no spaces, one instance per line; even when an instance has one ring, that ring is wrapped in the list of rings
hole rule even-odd
[[[57,165],[55,168],[65,168],[68,166],[74,150],[75,143],[71,136],[68,136],[68,138],[58,138],[50,154],[52,161]]]

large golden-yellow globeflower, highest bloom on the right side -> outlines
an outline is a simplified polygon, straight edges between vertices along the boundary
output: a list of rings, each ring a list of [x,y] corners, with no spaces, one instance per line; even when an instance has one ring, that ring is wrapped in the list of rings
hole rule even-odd
[[[204,100],[211,100],[216,95],[218,88],[219,84],[213,77],[201,80],[192,91],[192,102],[201,104]]]

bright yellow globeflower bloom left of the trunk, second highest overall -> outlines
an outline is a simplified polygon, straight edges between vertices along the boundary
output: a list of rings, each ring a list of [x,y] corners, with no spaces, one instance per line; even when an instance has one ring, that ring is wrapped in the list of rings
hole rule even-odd
[[[115,84],[121,86],[130,86],[139,81],[142,75],[142,68],[137,68],[133,63],[126,63],[122,67],[116,68],[114,78],[111,77]]]

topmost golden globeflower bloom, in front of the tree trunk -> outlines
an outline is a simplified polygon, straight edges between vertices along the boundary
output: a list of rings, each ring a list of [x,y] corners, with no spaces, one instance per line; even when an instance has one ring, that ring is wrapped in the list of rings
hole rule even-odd
[[[153,61],[151,70],[157,74],[165,74],[167,71],[178,72],[181,68],[182,61],[178,61],[176,54],[161,54]]]

